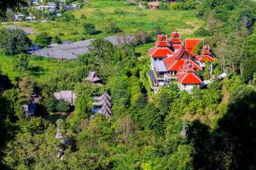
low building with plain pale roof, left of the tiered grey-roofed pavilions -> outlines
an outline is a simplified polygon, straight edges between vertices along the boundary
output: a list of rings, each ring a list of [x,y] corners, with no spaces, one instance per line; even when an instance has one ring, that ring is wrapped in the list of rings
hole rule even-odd
[[[63,99],[70,105],[75,105],[76,95],[71,90],[61,90],[61,92],[54,93],[55,99]]]

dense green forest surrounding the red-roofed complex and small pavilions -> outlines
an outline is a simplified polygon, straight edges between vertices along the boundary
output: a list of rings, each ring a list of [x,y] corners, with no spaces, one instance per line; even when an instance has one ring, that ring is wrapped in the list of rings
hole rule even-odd
[[[3,18],[7,8],[26,6],[7,2],[0,3]],[[229,77],[192,94],[175,83],[154,94],[149,58],[137,48],[152,45],[155,34],[163,33],[160,28],[137,32],[136,40],[125,45],[96,38],[90,53],[71,61],[27,54],[32,43],[44,47],[57,37],[42,33],[32,40],[23,31],[2,29],[1,55],[12,59],[3,68],[11,67],[18,76],[0,67],[0,169],[256,169],[256,3],[162,3],[160,10],[192,11],[206,23],[194,32],[204,37],[195,53],[208,44],[216,61],[214,71],[206,69],[201,77],[222,72]],[[96,31],[88,24],[84,29]],[[45,76],[50,69],[43,64],[53,63],[61,69]],[[98,73],[103,86],[84,81],[89,71]],[[60,90],[77,94],[75,108],[55,101],[53,94]],[[105,91],[112,97],[113,116],[91,118],[93,97]],[[32,95],[40,96],[37,114],[25,116],[21,106]],[[57,124],[63,141],[55,138]]]

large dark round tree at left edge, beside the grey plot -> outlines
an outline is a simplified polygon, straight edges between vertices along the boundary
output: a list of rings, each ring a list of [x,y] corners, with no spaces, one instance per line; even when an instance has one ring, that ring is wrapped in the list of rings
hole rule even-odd
[[[3,29],[0,31],[0,47],[5,54],[26,53],[30,45],[30,39],[20,29]]]

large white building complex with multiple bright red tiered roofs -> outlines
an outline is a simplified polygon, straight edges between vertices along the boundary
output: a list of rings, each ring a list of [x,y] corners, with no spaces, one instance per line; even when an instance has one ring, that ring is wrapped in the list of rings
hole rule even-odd
[[[209,46],[204,46],[201,55],[195,56],[194,49],[202,40],[188,38],[183,42],[180,32],[172,32],[170,39],[167,35],[158,36],[155,47],[148,50],[151,61],[149,77],[154,93],[171,82],[177,82],[181,90],[189,93],[194,87],[200,88],[203,82],[196,71],[203,70],[206,60],[214,60]]]

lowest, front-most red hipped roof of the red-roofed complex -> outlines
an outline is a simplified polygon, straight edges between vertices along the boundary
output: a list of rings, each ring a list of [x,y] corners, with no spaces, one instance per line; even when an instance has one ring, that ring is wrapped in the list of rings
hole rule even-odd
[[[181,84],[201,84],[203,83],[195,74],[195,71],[192,68],[183,69],[177,73],[177,81]]]

